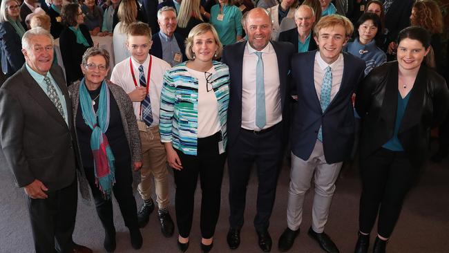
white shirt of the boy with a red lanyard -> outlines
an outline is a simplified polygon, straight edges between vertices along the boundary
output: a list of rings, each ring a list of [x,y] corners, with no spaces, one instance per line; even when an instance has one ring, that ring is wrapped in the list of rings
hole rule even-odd
[[[160,93],[162,91],[162,82],[165,71],[168,71],[171,67],[164,60],[159,59],[153,55],[153,63],[151,64],[151,75],[150,75],[150,86],[149,95],[151,100],[151,112],[153,113],[153,123],[150,127],[157,126],[159,124],[159,109],[160,109]],[[132,59],[132,57],[131,57]],[[137,86],[139,83],[139,66],[140,64],[132,59],[133,71],[135,75],[135,81]],[[146,60],[142,66],[144,66],[145,79],[148,76],[148,66],[150,64],[150,57],[146,57]],[[124,59],[115,65],[112,75],[111,82],[122,87],[126,93],[131,93],[135,90],[135,84],[133,81],[133,75],[131,75],[131,68],[129,66],[129,57]],[[142,115],[140,114],[140,104],[141,102],[133,102],[135,118],[141,120]]]

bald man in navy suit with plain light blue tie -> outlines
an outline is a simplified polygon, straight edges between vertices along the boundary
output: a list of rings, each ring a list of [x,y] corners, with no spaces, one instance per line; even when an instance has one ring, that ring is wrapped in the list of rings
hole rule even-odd
[[[222,56],[231,78],[227,121],[231,212],[227,242],[231,249],[240,244],[249,174],[256,163],[259,184],[254,227],[260,248],[269,252],[269,218],[288,134],[288,74],[294,48],[287,42],[269,41],[272,25],[265,9],[249,11],[245,26],[248,41],[225,47]]]

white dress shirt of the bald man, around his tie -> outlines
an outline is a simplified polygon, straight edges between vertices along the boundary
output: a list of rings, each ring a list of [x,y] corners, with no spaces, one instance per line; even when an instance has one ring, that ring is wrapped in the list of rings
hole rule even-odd
[[[260,130],[256,126],[256,66],[258,56],[256,50],[245,46],[242,68],[242,128]],[[267,124],[264,129],[273,127],[282,120],[280,104],[280,80],[278,58],[273,46],[269,43],[262,52],[263,73],[265,84],[265,113]]]

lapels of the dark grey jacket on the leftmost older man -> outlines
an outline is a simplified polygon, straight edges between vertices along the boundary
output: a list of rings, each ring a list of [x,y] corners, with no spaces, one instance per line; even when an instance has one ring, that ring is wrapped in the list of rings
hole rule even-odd
[[[46,111],[52,118],[54,118],[59,124],[63,125],[64,127],[67,127],[66,121],[64,118],[62,118],[61,113],[56,109],[56,106],[50,101],[46,93],[42,90],[42,88],[37,84],[35,79],[32,78],[30,73],[28,73],[28,70],[26,69],[25,64],[23,64],[23,67],[21,68],[21,74],[23,75],[24,79],[26,80],[25,85],[28,86],[28,94],[30,97],[32,97],[38,104],[42,106],[44,111]],[[53,77],[56,82],[58,82],[56,77]],[[65,84],[65,82],[64,82]],[[60,84],[58,84],[60,85]],[[59,86],[60,88],[60,86]],[[64,92],[64,89],[61,89],[61,91]],[[65,95],[64,95],[65,96]],[[67,101],[66,96],[66,103]],[[69,100],[70,101],[70,100]],[[67,107],[67,111],[69,111],[71,107]],[[69,121],[70,122],[70,121]]]

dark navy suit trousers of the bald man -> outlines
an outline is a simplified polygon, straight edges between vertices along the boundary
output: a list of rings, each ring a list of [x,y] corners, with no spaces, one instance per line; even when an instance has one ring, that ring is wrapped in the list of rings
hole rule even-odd
[[[243,226],[249,175],[256,163],[258,193],[254,227],[257,231],[268,229],[285,150],[282,130],[281,123],[265,133],[255,134],[241,129],[238,140],[229,147],[229,225],[232,228],[240,229]]]

